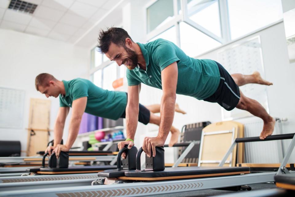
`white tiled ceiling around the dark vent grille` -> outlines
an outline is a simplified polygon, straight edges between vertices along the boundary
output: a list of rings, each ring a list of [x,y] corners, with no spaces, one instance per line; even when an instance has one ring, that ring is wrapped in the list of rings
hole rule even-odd
[[[10,0],[0,0],[0,28],[75,44],[83,41],[87,32],[91,32],[94,25],[101,21],[109,10],[112,10],[118,2],[122,2],[119,0],[24,1],[38,5],[33,14],[9,10],[7,8]],[[95,33],[97,34],[97,29]]]

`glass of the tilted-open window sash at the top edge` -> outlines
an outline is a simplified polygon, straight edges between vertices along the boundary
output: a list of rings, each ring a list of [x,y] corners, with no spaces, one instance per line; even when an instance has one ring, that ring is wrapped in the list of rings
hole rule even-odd
[[[200,3],[199,0],[192,0],[187,3],[187,12],[192,21],[221,37],[217,0],[205,1],[204,3]]]

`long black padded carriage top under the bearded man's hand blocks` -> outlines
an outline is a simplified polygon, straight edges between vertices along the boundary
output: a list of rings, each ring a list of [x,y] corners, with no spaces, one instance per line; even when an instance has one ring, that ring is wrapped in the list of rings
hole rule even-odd
[[[126,177],[170,177],[170,176],[188,176],[188,175],[207,175],[231,172],[250,172],[250,167],[168,167],[164,171],[127,171]]]

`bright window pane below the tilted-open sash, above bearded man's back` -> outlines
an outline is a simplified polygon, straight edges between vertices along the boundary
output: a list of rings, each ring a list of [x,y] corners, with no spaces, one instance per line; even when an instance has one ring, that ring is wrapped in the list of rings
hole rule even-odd
[[[220,42],[217,42],[185,22],[179,23],[179,29],[180,48],[190,57],[195,57],[221,45]]]

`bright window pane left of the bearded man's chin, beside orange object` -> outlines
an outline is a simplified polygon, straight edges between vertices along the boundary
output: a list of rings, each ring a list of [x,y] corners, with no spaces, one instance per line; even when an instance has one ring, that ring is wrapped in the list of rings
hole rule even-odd
[[[112,84],[117,79],[117,64],[110,64],[103,69],[103,89],[114,90]]]

